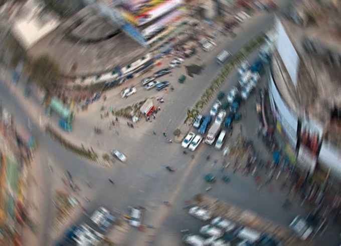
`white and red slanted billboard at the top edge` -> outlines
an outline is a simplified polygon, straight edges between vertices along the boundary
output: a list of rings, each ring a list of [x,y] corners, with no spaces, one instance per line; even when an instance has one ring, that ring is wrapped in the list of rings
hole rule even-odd
[[[164,14],[178,8],[183,4],[183,0],[169,0],[154,9],[147,11],[137,17],[135,19],[137,20],[137,26],[142,26],[144,24],[147,24],[148,22],[151,22],[152,20],[163,16]]]

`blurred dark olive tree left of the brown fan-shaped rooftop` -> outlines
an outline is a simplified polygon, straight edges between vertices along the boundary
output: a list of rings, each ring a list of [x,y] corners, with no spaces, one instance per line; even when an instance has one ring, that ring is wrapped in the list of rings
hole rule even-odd
[[[60,74],[59,66],[48,55],[35,58],[28,65],[28,70],[30,79],[47,91],[51,91]]]

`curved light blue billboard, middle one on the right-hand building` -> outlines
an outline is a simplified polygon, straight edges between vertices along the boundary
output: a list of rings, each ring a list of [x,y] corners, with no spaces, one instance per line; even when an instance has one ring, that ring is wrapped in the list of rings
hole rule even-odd
[[[276,118],[276,120],[280,123],[281,131],[288,139],[291,148],[295,150],[297,143],[298,118],[293,113],[291,113],[288,106],[280,96],[276,84],[273,80],[272,72],[269,76],[269,83],[269,97],[272,112],[274,113],[274,117]]]

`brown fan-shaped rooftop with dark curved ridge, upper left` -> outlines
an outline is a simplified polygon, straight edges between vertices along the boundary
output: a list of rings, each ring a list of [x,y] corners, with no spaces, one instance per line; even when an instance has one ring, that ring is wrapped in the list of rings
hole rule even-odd
[[[146,53],[147,49],[89,8],[62,23],[28,51],[32,57],[48,54],[67,77],[111,72],[117,65],[129,65]]]

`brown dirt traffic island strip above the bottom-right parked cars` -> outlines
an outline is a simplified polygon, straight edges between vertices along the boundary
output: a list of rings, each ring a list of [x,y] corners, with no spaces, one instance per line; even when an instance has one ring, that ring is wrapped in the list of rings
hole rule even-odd
[[[260,232],[270,233],[281,240],[284,245],[306,245],[306,242],[301,241],[288,228],[263,218],[253,211],[243,210],[204,194],[195,195],[193,200],[197,203],[197,206],[205,206],[205,209],[215,216],[222,216],[237,224],[248,226]]]

